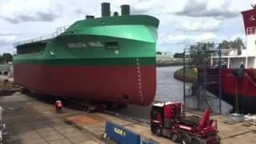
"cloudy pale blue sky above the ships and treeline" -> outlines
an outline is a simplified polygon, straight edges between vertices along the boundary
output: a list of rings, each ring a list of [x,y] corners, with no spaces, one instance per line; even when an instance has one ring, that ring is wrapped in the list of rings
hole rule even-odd
[[[111,12],[130,4],[131,14],[160,19],[157,50],[181,52],[195,42],[245,39],[242,10],[255,0],[0,0],[0,54],[13,53],[13,42],[51,34],[86,14],[101,16],[101,3]]]

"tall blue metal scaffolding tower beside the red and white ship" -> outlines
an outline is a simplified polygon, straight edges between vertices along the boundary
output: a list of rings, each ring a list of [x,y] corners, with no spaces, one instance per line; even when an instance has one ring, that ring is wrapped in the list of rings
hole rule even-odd
[[[193,53],[193,54],[192,54]],[[217,53],[217,54],[216,54]],[[208,74],[207,69],[210,67],[210,62],[206,62],[211,55],[218,55],[218,74]],[[192,52],[189,48],[186,48],[183,53],[183,69],[197,68],[198,79],[192,83],[183,83],[184,103],[197,104],[193,106],[198,110],[204,110],[209,108],[215,114],[222,114],[222,93],[221,93],[221,53],[220,46],[206,46],[198,47],[197,51]],[[186,78],[186,71],[183,72],[183,77]],[[216,94],[218,96],[216,96]],[[193,102],[190,102],[193,101]],[[213,101],[213,102],[211,102]],[[212,103],[218,103],[218,112],[216,107],[213,107]]]

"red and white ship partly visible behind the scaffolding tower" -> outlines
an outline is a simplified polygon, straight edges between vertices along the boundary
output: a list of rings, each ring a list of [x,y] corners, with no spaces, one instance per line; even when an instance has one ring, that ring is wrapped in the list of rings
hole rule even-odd
[[[256,7],[243,11],[242,16],[246,48],[222,50],[222,62],[226,65],[222,69],[222,98],[240,113],[256,114]],[[211,58],[212,64],[214,58],[218,57]],[[244,69],[239,73],[241,65]],[[217,71],[210,69],[208,72],[216,74]]]

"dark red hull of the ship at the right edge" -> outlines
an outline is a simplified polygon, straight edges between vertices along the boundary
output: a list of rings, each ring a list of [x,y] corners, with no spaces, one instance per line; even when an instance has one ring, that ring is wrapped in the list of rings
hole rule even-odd
[[[218,69],[207,69],[207,73],[216,75]],[[213,90],[215,87],[212,86]],[[240,112],[256,114],[255,69],[245,69],[243,77],[234,77],[230,69],[222,69],[222,99],[235,107],[236,95],[238,95],[238,109]]]

